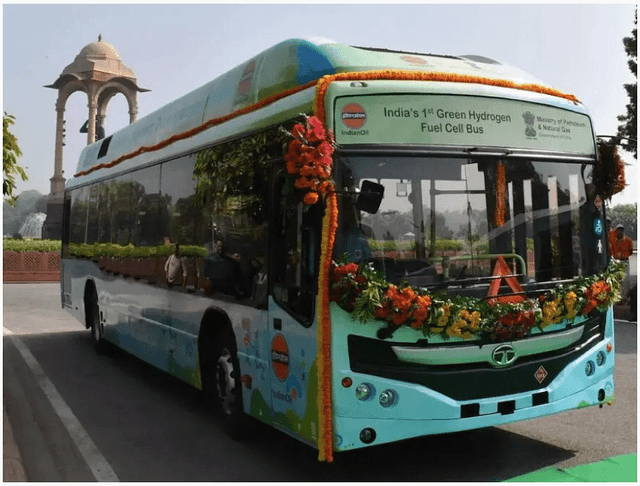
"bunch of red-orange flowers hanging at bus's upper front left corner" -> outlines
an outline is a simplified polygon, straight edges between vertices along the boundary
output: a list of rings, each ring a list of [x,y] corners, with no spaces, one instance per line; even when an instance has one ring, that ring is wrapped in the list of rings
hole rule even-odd
[[[306,192],[305,204],[315,204],[333,187],[333,136],[315,116],[305,116],[287,133],[293,138],[284,156],[287,172],[295,178],[296,189]]]

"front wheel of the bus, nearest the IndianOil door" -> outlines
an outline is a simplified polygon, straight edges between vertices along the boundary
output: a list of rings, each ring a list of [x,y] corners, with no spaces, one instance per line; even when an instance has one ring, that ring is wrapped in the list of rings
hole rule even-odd
[[[235,336],[223,327],[214,345],[213,390],[216,408],[224,420],[224,429],[232,439],[245,439],[249,433],[249,417],[242,410],[242,382]]]

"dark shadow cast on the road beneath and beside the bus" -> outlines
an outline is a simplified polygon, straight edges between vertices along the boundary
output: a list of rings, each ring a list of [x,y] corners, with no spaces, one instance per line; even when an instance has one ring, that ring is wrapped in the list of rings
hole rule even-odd
[[[190,385],[114,349],[96,355],[88,331],[20,336],[121,481],[501,481],[574,457],[497,427],[336,454],[255,422],[233,441]]]

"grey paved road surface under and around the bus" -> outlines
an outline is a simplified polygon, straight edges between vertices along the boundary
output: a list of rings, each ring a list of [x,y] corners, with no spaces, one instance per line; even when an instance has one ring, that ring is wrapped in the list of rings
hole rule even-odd
[[[259,424],[251,440],[234,442],[198,390],[123,352],[96,355],[58,289],[3,285],[13,333],[4,337],[4,401],[32,481],[92,481],[96,468],[120,481],[495,481],[637,451],[635,323],[616,324],[614,406],[351,451],[326,465]]]

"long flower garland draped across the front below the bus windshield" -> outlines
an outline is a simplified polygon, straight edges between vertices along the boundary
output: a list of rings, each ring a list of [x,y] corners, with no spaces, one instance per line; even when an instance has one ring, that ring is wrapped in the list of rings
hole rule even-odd
[[[442,298],[407,284],[395,285],[365,264],[333,264],[330,299],[361,322],[384,321],[391,331],[410,327],[445,339],[506,341],[606,311],[621,298],[625,264],[612,261],[604,272],[558,285],[535,299],[489,303],[468,296]]]

